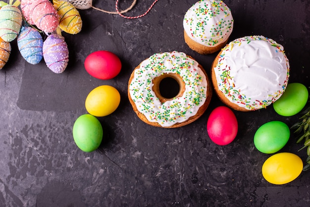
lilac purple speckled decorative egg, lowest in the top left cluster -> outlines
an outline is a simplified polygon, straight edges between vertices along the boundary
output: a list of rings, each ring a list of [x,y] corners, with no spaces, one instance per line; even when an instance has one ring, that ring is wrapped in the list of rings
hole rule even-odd
[[[62,73],[69,61],[69,51],[64,37],[52,34],[43,42],[43,58],[54,73]]]

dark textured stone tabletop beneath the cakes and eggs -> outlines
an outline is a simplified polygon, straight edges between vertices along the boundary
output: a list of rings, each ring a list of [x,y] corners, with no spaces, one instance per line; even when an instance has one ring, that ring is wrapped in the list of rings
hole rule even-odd
[[[138,0],[129,16],[144,13],[152,0]],[[185,52],[209,74],[216,54],[191,51],[183,40],[183,16],[196,0],[158,0],[145,17],[125,19],[93,8],[80,10],[82,31],[62,33],[69,64],[54,74],[44,61],[27,63],[11,42],[9,61],[0,71],[0,206],[30,207],[202,207],[310,206],[310,172],[291,183],[272,185],[261,175],[270,155],[254,147],[260,125],[281,120],[291,126],[300,115],[282,117],[272,106],[234,111],[239,131],[233,143],[217,146],[207,135],[211,110],[222,105],[213,96],[196,122],[176,129],[146,125],[127,98],[132,70],[157,52]],[[115,0],[94,0],[114,10]],[[263,35],[282,44],[290,60],[290,82],[307,87],[310,68],[310,1],[225,0],[235,20],[230,41]],[[130,0],[120,1],[125,9]],[[122,61],[120,74],[98,80],[84,69],[88,54],[108,50]],[[76,118],[87,113],[85,99],[97,86],[121,94],[117,110],[99,118],[105,141],[92,153],[79,150],[72,137]],[[292,135],[281,152],[297,152]]]

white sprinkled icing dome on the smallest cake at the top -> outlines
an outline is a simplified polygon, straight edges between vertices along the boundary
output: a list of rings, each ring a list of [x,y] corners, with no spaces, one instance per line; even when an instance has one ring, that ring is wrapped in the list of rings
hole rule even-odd
[[[233,17],[220,0],[201,0],[186,12],[183,20],[186,34],[194,41],[215,47],[225,42],[233,29]]]

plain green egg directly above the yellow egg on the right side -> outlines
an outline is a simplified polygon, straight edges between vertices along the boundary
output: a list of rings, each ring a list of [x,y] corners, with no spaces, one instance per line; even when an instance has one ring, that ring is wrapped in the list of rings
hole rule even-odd
[[[254,135],[254,145],[261,153],[272,154],[281,150],[290,138],[290,128],[282,121],[261,125]]]

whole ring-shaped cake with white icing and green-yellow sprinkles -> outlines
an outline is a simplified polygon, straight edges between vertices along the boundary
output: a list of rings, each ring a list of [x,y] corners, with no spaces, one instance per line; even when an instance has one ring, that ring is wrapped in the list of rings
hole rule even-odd
[[[175,79],[179,85],[175,97],[160,93],[160,82],[166,78]],[[134,111],[142,121],[157,127],[192,123],[204,114],[211,96],[206,71],[183,52],[155,53],[134,69],[128,82],[128,98]]]

